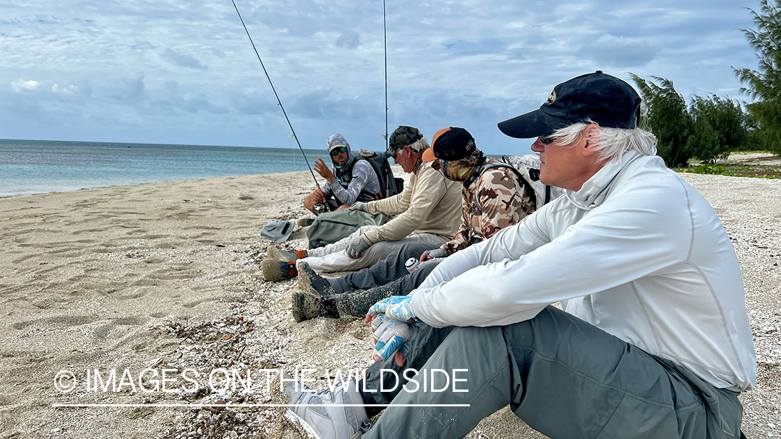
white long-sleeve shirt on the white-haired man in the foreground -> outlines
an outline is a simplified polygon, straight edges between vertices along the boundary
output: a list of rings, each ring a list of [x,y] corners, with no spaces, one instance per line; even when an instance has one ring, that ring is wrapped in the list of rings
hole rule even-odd
[[[744,391],[756,355],[743,279],[719,217],[661,158],[632,151],[577,191],[444,260],[412,292],[435,327],[565,311],[716,388]]]

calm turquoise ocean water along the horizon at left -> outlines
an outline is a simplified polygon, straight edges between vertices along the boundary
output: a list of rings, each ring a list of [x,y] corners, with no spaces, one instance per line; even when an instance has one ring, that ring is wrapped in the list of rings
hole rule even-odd
[[[305,150],[311,165],[326,151]],[[296,147],[208,147],[0,139],[0,196],[306,171]]]

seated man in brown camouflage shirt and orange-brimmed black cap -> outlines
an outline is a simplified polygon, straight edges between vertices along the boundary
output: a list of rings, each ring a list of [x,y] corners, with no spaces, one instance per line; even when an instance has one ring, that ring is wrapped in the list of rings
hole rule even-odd
[[[293,292],[293,316],[297,321],[344,314],[364,317],[374,303],[389,296],[405,296],[417,288],[437,267],[440,258],[489,239],[534,211],[533,189],[512,167],[477,149],[466,129],[449,127],[437,131],[432,146],[423,153],[423,161],[433,162],[432,167],[447,179],[463,183],[462,223],[455,237],[437,248],[405,244],[373,267],[343,278],[323,278],[299,264],[301,288]],[[410,257],[421,260],[411,274],[405,268]],[[437,260],[423,263],[434,258]]]

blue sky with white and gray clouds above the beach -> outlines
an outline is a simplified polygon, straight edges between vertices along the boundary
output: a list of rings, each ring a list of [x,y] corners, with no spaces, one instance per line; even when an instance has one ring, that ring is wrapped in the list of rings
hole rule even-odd
[[[305,148],[383,150],[381,0],[237,0]],[[497,122],[602,69],[662,76],[687,99],[740,100],[756,0],[387,0],[389,129]],[[0,0],[0,138],[290,147],[230,0]]]

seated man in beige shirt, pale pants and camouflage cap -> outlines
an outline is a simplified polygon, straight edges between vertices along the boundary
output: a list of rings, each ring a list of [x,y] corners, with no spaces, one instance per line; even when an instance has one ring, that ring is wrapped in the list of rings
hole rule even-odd
[[[363,226],[337,243],[308,250],[303,259],[284,262],[269,257],[262,263],[266,280],[297,275],[295,264],[301,260],[319,273],[360,270],[383,260],[405,243],[430,243],[437,248],[452,239],[461,222],[461,185],[423,162],[421,157],[428,147],[418,129],[399,126],[391,134],[386,154],[404,172],[412,174],[409,184],[398,195],[352,206],[395,218],[384,225]]]

